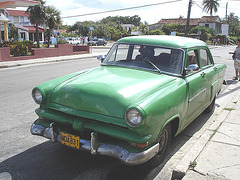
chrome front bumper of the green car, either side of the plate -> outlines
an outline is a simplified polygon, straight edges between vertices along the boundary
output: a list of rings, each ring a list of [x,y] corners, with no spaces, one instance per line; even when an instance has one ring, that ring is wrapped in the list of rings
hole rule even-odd
[[[43,136],[52,142],[61,142],[61,132],[55,130],[53,123],[50,124],[50,128],[33,124],[30,131],[33,135]],[[159,143],[157,143],[145,151],[131,153],[117,145],[101,143],[95,132],[91,133],[91,140],[80,139],[80,144],[80,149],[82,150],[90,151],[92,154],[111,156],[128,165],[138,165],[147,162],[158,153],[159,149]]]

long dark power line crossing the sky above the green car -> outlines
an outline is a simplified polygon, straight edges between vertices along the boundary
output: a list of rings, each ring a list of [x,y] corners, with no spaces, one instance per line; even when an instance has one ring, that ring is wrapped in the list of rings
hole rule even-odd
[[[161,2],[161,3],[155,3],[155,4],[147,4],[147,5],[135,6],[135,7],[129,7],[129,8],[115,9],[115,10],[109,10],[109,11],[101,11],[101,12],[97,12],[97,13],[79,14],[79,15],[74,15],[74,16],[65,16],[65,17],[62,17],[62,18],[72,18],[72,17],[79,17],[79,16],[90,16],[90,15],[96,15],[96,14],[109,13],[109,12],[124,11],[124,10],[144,8],[144,7],[149,7],[149,6],[156,6],[156,5],[160,5],[160,4],[168,4],[168,3],[179,2],[179,1],[182,1],[182,0],[174,0],[174,1],[167,1],[167,2]]]

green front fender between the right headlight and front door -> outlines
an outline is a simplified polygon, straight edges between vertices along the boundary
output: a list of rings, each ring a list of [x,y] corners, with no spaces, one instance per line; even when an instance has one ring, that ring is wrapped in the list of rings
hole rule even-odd
[[[180,124],[180,120],[186,116],[186,82],[183,79],[179,80],[177,78],[175,82],[167,83],[165,87],[161,87],[161,90],[142,100],[139,106],[146,113],[146,119],[138,129],[141,132],[151,133],[151,143],[156,143],[162,129],[168,123],[179,119],[178,124]]]

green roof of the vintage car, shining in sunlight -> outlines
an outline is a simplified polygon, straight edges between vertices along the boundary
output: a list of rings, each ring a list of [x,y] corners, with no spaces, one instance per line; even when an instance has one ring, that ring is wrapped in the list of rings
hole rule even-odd
[[[167,36],[167,35],[131,36],[131,37],[122,38],[117,42],[158,45],[158,46],[175,47],[175,48],[191,48],[196,46],[207,46],[205,42],[198,39],[186,38],[186,37],[180,37],[180,36]]]

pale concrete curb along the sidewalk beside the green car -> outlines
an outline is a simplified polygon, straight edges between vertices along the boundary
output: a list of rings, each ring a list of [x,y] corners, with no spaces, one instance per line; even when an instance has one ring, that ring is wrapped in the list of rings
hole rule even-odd
[[[225,92],[231,91],[232,86],[237,85],[229,85]],[[235,100],[235,94],[239,93],[238,91],[234,92],[234,94],[228,94],[224,100],[221,102],[221,109],[219,112],[214,112],[214,115],[211,117],[212,124],[208,129],[205,130],[204,134],[198,139],[198,141],[193,145],[193,147],[188,151],[188,153],[182,158],[182,160],[177,164],[177,166],[172,171],[171,179],[182,179],[186,172],[189,170],[189,165],[191,162],[194,162],[200,153],[204,150],[204,147],[207,145],[209,140],[216,133],[215,131],[221,126],[221,124],[225,121],[231,111],[226,111],[224,108],[233,108],[234,104],[232,103]]]

